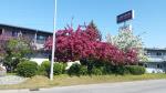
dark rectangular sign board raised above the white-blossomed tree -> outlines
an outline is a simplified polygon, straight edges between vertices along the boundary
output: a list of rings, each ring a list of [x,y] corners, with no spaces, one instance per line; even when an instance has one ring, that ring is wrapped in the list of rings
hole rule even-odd
[[[132,19],[134,19],[134,11],[133,10],[129,10],[129,11],[124,12],[124,13],[116,17],[117,23],[122,23],[122,22],[125,22],[125,21],[128,21]]]

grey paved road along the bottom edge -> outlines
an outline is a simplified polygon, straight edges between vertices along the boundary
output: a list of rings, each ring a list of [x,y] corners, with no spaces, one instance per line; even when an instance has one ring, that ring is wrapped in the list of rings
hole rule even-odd
[[[62,86],[40,91],[11,90],[0,93],[166,93],[166,80]]]

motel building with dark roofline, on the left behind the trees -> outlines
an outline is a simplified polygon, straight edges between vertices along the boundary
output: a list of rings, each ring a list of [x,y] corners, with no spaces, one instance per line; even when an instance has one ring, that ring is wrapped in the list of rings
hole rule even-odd
[[[4,37],[6,35],[6,37]],[[30,39],[31,43],[34,45],[37,52],[31,55],[31,61],[41,64],[43,61],[49,60],[48,54],[44,52],[45,40],[52,35],[52,32],[42,31],[37,29],[2,24],[0,23],[0,38],[25,38]]]

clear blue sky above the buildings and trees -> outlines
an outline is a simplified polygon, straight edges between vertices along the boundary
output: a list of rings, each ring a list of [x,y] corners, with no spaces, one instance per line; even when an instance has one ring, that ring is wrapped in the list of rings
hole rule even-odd
[[[53,31],[54,0],[0,0],[0,23]],[[135,10],[134,33],[145,46],[166,48],[166,0],[58,0],[56,28],[73,19],[73,27],[94,20],[103,34],[115,35],[116,16]]]

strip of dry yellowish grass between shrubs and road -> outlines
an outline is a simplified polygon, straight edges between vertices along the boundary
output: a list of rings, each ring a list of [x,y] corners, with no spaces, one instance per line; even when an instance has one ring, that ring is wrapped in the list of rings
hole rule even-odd
[[[92,75],[92,76],[69,76],[66,74],[54,76],[50,81],[46,76],[37,75],[25,82],[15,85],[0,85],[0,90],[9,89],[40,89],[52,86],[68,86],[80,84],[113,83],[139,80],[166,79],[166,74],[143,74],[143,75]]]

